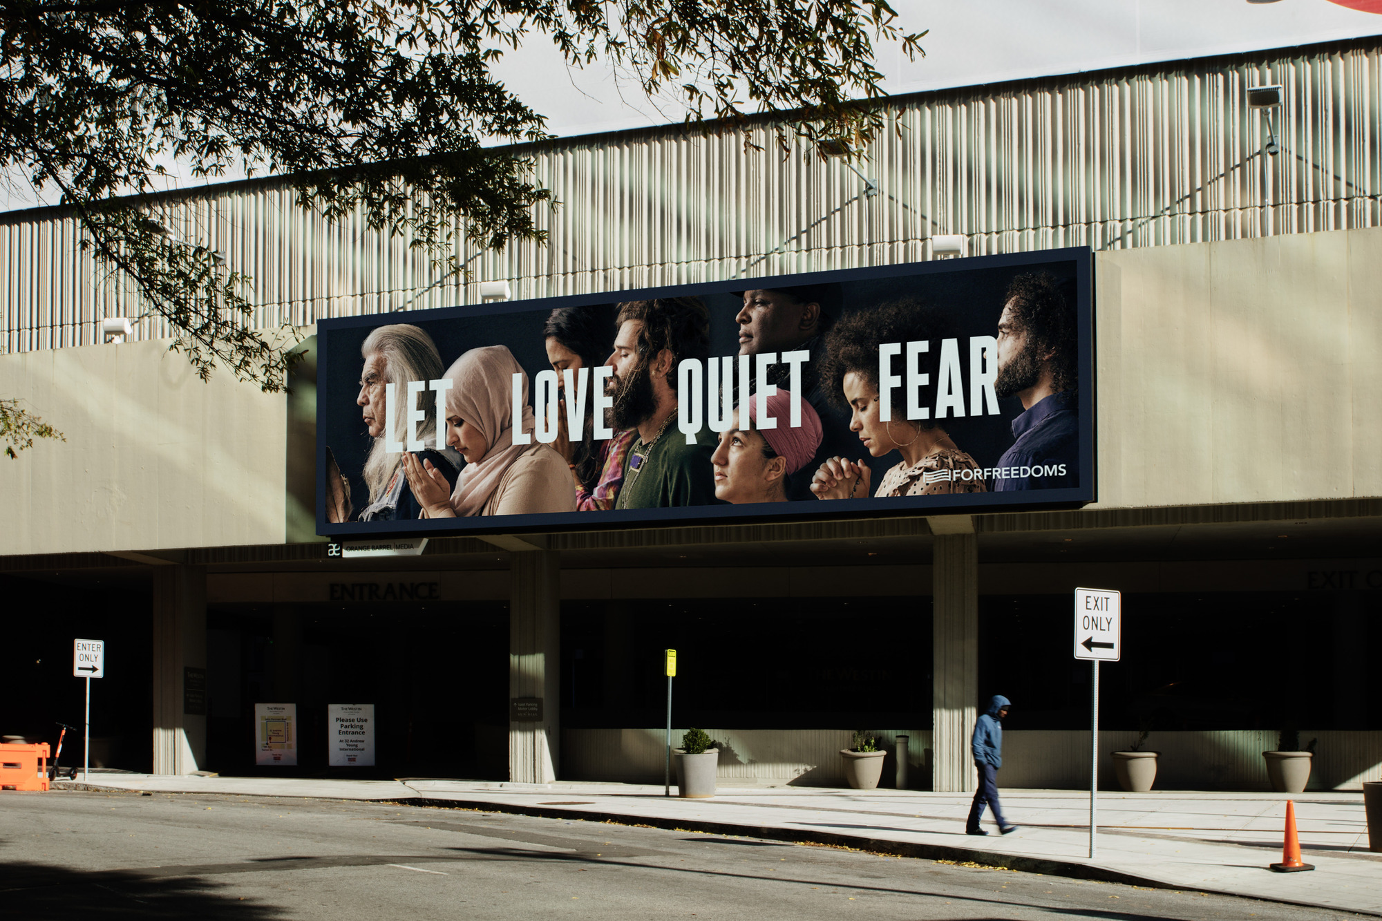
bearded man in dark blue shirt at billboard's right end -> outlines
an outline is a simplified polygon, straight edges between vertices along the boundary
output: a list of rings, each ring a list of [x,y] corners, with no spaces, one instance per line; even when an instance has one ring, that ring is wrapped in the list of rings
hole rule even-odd
[[[1078,387],[1074,308],[1048,272],[1019,275],[998,318],[994,391],[1017,397],[1023,412],[1013,419],[1016,441],[998,466],[1031,467],[1032,474],[995,477],[995,492],[1079,485]],[[1057,472],[1048,474],[1048,467]]]

